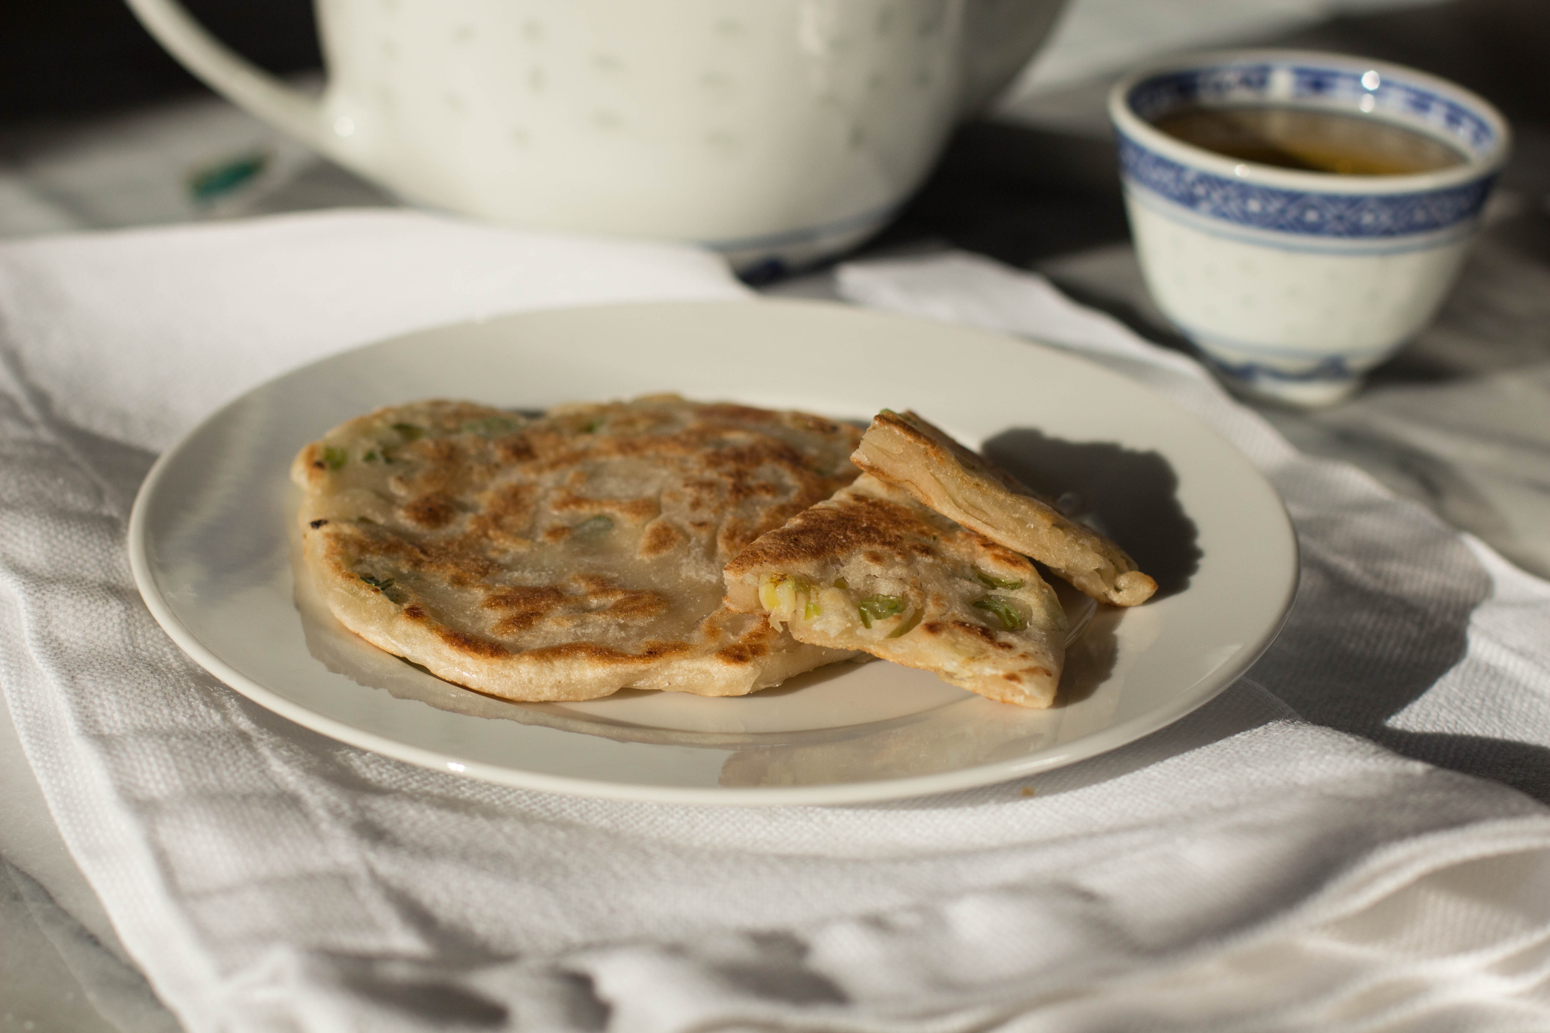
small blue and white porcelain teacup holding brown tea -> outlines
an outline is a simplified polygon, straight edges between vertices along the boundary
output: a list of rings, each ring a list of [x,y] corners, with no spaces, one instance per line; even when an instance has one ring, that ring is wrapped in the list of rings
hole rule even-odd
[[[1435,172],[1341,175],[1231,158],[1155,122],[1198,108],[1376,119],[1459,152]],[[1229,383],[1291,404],[1339,401],[1442,305],[1507,160],[1486,101],[1339,54],[1237,50],[1127,76],[1108,96],[1147,287]]]

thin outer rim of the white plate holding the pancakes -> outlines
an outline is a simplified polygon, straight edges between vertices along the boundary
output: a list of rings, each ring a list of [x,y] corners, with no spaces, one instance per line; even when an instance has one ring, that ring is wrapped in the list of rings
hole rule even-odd
[[[522,319],[524,316],[546,316],[560,313],[584,313],[600,308],[727,308],[727,307],[786,307],[786,308],[811,308],[811,310],[828,310],[828,311],[843,311],[843,313],[865,313],[879,319],[894,319],[910,324],[935,325],[944,330],[972,333],[976,336],[1004,339],[1023,347],[1034,347],[1040,350],[1051,352],[1063,359],[1077,361],[1088,365],[1097,365],[1091,362],[1087,356],[1071,352],[1068,348],[1060,348],[1057,345],[1038,341],[1035,338],[1014,336],[1009,333],[983,330],[978,327],[964,327],[959,324],[947,324],[941,321],[922,319],[916,316],[907,316],[899,313],[877,311],[871,308],[862,308],[856,305],[846,305],[842,302],[815,300],[815,299],[786,299],[786,297],[756,297],[749,300],[660,300],[660,302],[618,302],[608,305],[567,305],[556,308],[541,308],[529,310],[519,313],[507,313],[502,316],[491,316],[485,319],[463,319],[457,322],[442,324],[436,327],[423,327],[418,330],[409,330],[405,333],[380,338],[369,341],[350,348],[343,348],[332,355],[319,356],[312,362],[282,370],[274,376],[270,376],[259,384],[253,384],[242,393],[225,401],[211,410],[205,418],[202,418],[194,427],[184,432],[174,444],[166,448],[152,463],[150,471],[141,482],[140,489],[135,492],[135,502],[130,508],[129,527],[127,527],[127,544],[129,544],[129,562],[133,573],[135,585],[140,590],[141,599],[144,599],[147,610],[150,610],[152,618],[158,626],[167,633],[169,638],[181,649],[189,658],[192,658],[198,666],[202,666],[209,674],[215,675],[223,685],[246,697],[248,700],[257,703],[259,706],[268,709],[270,712],[279,714],[281,717],[318,734],[322,734],[336,742],[344,742],[347,745],[367,750],[381,756],[394,757],[417,767],[443,771],[450,774],[457,774],[463,777],[473,777],[482,782],[493,782],[499,785],[508,785],[513,788],[536,790],[547,793],[561,793],[570,796],[583,796],[592,799],[614,799],[614,801],[629,801],[629,802],[653,802],[653,804],[687,804],[687,805],[846,805],[846,804],[866,804],[866,802],[882,802],[882,801],[897,801],[911,799],[922,796],[936,796],[942,793],[963,791],[969,788],[980,788],[986,785],[995,785],[1000,782],[1009,782],[1018,777],[1028,777],[1040,771],[1048,771],[1090,757],[1096,757],[1105,753],[1111,753],[1121,746],[1130,745],[1152,733],[1161,731],[1169,725],[1178,722],[1180,719],[1189,716],[1190,712],[1200,709],[1212,698],[1224,692],[1231,685],[1234,685],[1254,663],[1265,654],[1266,649],[1276,641],[1286,619],[1291,613],[1293,602],[1297,596],[1297,589],[1300,585],[1300,544],[1297,541],[1296,527],[1291,520],[1291,514],[1286,511],[1285,500],[1276,486],[1269,482],[1265,474],[1254,466],[1248,455],[1232,441],[1218,434],[1211,427],[1200,415],[1184,409],[1172,398],[1161,395],[1144,383],[1135,381],[1132,378],[1124,378],[1121,373],[1107,370],[1097,365],[1105,375],[1122,378],[1128,381],[1136,389],[1145,392],[1153,401],[1173,410],[1175,415],[1183,417],[1195,423],[1211,437],[1217,438],[1229,449],[1232,449],[1245,463],[1245,466],[1252,471],[1259,479],[1260,485],[1269,492],[1269,496],[1277,502],[1277,514],[1280,517],[1280,528],[1285,533],[1285,544],[1290,545],[1290,561],[1291,561],[1291,578],[1285,585],[1282,599],[1279,601],[1279,613],[1276,619],[1259,635],[1252,643],[1245,643],[1237,654],[1228,663],[1220,668],[1212,669],[1200,680],[1197,680],[1189,689],[1180,692],[1176,697],[1167,703],[1158,705],[1144,714],[1138,714],[1128,720],[1119,722],[1116,725],[1108,725],[1099,731],[1090,733],[1079,739],[1074,739],[1060,746],[1054,746],[1045,751],[1034,753],[1026,757],[1014,757],[1009,760],[997,760],[992,764],[969,765],[963,768],[953,768],[949,771],[938,771],[928,774],[913,774],[901,777],[873,779],[865,782],[823,782],[814,785],[781,785],[781,787],[676,787],[676,785],[656,785],[642,782],[617,782],[608,779],[586,779],[577,776],[564,774],[547,774],[541,771],[532,771],[516,767],[501,767],[494,764],[487,764],[473,759],[456,759],[446,753],[439,753],[436,750],[418,746],[414,743],[401,742],[381,736],[372,731],[366,731],[349,725],[339,719],[330,717],[327,714],[318,712],[302,703],[281,695],[276,689],[265,686],[264,683],[242,674],[229,663],[226,663],[219,654],[205,646],[197,635],[181,621],[181,618],[174,612],[172,606],[167,602],[161,593],[160,584],[157,582],[153,567],[149,558],[149,510],[155,499],[155,492],[166,471],[170,469],[180,452],[197,441],[206,427],[215,424],[228,414],[228,410],[242,404],[250,395],[262,390],[277,379],[302,373],[307,369],[321,365],[339,359],[343,356],[366,352],[378,345],[401,341],[406,338],[415,338],[422,335],[437,335],[451,331],[460,327],[474,325],[490,325],[494,322],[504,322],[508,319]],[[732,393],[736,393],[735,390]],[[487,719],[488,720],[488,719]],[[575,733],[584,734],[584,733]]]

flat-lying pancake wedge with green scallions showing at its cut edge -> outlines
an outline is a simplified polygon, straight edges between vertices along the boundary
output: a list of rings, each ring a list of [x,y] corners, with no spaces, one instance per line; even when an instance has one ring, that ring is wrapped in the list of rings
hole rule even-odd
[[[862,475],[738,553],[727,606],[800,643],[862,649],[1018,706],[1049,706],[1065,612],[1028,559]]]

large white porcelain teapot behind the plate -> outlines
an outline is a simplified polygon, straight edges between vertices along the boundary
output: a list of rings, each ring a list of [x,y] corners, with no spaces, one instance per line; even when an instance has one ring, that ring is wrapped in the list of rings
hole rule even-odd
[[[880,228],[1060,0],[318,0],[321,99],[175,0],[197,76],[405,200],[801,265]]]

